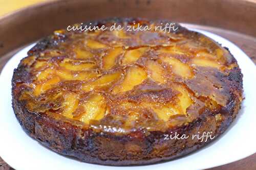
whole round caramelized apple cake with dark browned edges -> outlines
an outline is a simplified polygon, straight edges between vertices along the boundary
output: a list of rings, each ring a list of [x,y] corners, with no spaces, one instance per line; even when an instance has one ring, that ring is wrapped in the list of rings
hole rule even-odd
[[[57,153],[106,165],[170,160],[216,139],[241,107],[236,59],[200,33],[140,18],[68,28],[38,42],[12,79],[20,125]]]

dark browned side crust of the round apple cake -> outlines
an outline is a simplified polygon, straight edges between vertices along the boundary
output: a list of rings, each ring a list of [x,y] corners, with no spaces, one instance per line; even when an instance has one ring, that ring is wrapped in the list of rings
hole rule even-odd
[[[123,20],[133,19],[118,19]],[[99,21],[98,23],[106,21]],[[189,34],[184,28],[179,32]],[[196,33],[198,34],[198,33]],[[29,52],[28,56],[36,56],[50,46],[58,45],[65,41],[66,37],[50,36],[38,42]],[[236,63],[230,54],[230,63]],[[203,69],[202,69],[203,71]],[[208,70],[205,70],[208,71]],[[188,124],[169,127],[167,129],[147,131],[146,129],[133,129],[128,133],[115,133],[111,131],[95,130],[90,127],[83,127],[77,120],[71,120],[61,115],[49,115],[40,112],[31,112],[26,107],[26,101],[20,101],[20,95],[27,89],[24,82],[31,82],[30,72],[26,65],[20,63],[14,70],[12,79],[12,105],[16,118],[26,133],[38,140],[47,148],[67,156],[97,164],[105,165],[133,165],[148,164],[163,160],[174,159],[203,147],[210,140],[191,139],[164,140],[165,135],[177,132],[192,136],[197,133],[212,132],[211,135],[217,138],[232,123],[242,102],[242,73],[239,67],[230,69],[227,75],[216,71],[214,79],[222,82],[228,92],[228,103],[225,106],[218,105],[211,110],[203,108]],[[186,82],[192,89],[193,80]],[[203,98],[203,97],[202,97]],[[199,96],[199,99],[200,96]],[[219,116],[221,115],[221,118]]]

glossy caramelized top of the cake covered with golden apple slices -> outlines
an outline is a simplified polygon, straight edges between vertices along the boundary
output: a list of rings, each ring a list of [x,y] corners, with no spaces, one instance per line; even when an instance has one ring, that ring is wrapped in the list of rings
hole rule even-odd
[[[104,31],[55,31],[20,62],[14,92],[31,112],[99,131],[166,130],[205,111],[221,118],[242,88],[236,60],[177,23],[170,32],[127,30],[166,23],[113,19],[92,23]]]

